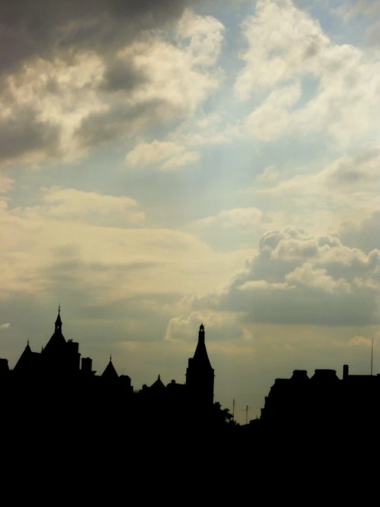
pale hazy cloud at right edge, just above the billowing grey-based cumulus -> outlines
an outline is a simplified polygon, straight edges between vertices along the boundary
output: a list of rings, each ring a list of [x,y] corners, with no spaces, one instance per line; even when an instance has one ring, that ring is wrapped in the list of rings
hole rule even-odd
[[[313,233],[321,234],[337,231],[344,222],[353,230],[354,222],[366,220],[380,207],[377,148],[362,148],[305,167],[285,165],[273,180],[261,176],[242,193],[265,196],[272,209],[281,209],[286,220],[284,216],[277,220],[276,227],[289,222],[301,227],[307,224]],[[350,245],[356,246],[352,241]]]

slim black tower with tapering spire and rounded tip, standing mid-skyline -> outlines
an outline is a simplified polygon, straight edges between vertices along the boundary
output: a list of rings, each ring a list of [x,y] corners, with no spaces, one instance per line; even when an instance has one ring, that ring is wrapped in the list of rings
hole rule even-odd
[[[193,401],[212,405],[214,401],[214,370],[204,343],[204,325],[200,325],[198,345],[194,357],[189,359],[186,370],[186,386]]]

